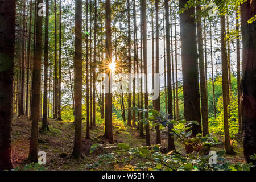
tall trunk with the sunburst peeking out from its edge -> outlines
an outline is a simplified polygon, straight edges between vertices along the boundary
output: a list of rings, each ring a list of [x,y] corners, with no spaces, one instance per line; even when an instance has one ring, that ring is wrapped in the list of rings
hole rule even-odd
[[[114,143],[112,129],[112,90],[111,90],[111,70],[109,65],[112,63],[112,43],[111,43],[111,5],[110,0],[106,0],[106,61],[105,71],[108,75],[106,80],[106,119],[105,119],[105,138],[109,139],[109,143]]]

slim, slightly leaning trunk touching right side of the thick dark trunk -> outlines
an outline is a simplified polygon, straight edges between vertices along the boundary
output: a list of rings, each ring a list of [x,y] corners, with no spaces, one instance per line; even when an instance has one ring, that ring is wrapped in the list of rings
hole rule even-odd
[[[204,70],[204,47],[203,47],[203,33],[201,21],[201,5],[196,6],[196,28],[197,28],[197,43],[199,53],[199,71],[200,71],[200,92],[201,92],[201,110],[202,110],[202,127],[203,136],[209,134],[208,127],[208,96],[206,90],[205,70]]]

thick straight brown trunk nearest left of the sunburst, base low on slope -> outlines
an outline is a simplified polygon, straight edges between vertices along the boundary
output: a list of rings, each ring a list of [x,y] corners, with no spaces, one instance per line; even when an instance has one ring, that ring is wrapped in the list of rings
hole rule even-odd
[[[75,57],[74,57],[74,98],[75,98],[75,141],[72,155],[82,157],[82,0],[76,0],[75,9]]]

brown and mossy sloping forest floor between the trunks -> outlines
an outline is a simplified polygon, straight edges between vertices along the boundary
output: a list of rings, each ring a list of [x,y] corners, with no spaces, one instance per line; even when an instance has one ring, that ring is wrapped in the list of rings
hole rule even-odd
[[[114,163],[102,164],[95,166],[98,163],[100,155],[110,154],[119,150],[118,143],[127,143],[131,147],[139,147],[146,144],[146,139],[139,137],[137,129],[124,127],[123,123],[113,123],[113,135],[115,144],[108,144],[105,140],[104,125],[97,125],[96,129],[90,130],[91,140],[85,139],[86,123],[82,122],[82,154],[84,159],[76,160],[71,157],[73,150],[73,140],[75,134],[75,127],[69,121],[57,121],[55,119],[48,119],[49,129],[48,133],[39,133],[39,151],[46,152],[46,170],[49,171],[80,171],[80,170],[136,170],[138,163],[146,162],[146,160],[139,159],[136,156],[130,156],[127,159],[127,154],[120,154]],[[39,123],[39,127],[42,123]],[[14,168],[22,169],[26,164],[30,164],[27,160],[30,147],[30,133],[31,120],[27,118],[14,118],[12,131],[12,147],[13,147],[13,163]],[[151,143],[155,144],[155,131],[151,130]],[[167,132],[162,132],[162,146],[167,146],[168,137]],[[223,138],[219,136],[219,140]],[[236,139],[237,144],[234,147],[235,155],[225,155],[225,159],[231,163],[245,162],[243,158],[243,149],[241,139]],[[101,144],[96,150],[90,154],[89,150],[92,144]],[[222,142],[223,143],[223,142]],[[175,139],[176,150],[184,154],[184,146]],[[212,150],[223,150],[223,144],[213,147]]]

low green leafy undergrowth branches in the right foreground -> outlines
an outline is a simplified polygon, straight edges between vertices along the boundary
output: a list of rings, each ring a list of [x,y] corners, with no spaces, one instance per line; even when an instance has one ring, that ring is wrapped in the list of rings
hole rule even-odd
[[[135,109],[135,108],[133,108]],[[187,150],[186,155],[181,155],[176,151],[168,152],[163,154],[161,152],[159,145],[154,146],[141,146],[131,148],[126,143],[119,143],[118,147],[121,148],[120,151],[115,151],[115,153],[105,154],[99,156],[99,158],[104,159],[100,160],[97,165],[106,164],[106,163],[118,163],[117,157],[119,154],[130,154],[136,156],[137,158],[146,159],[149,162],[139,162],[137,164],[138,169],[152,169],[152,170],[166,170],[166,171],[248,171],[251,164],[230,164],[226,162],[223,158],[225,151],[218,151],[216,154],[217,164],[210,164],[211,155],[205,155],[208,147],[212,147],[216,144],[219,144],[218,138],[215,136],[207,135],[206,137],[201,137],[201,134],[192,136],[192,126],[199,125],[196,121],[174,121],[166,119],[165,114],[160,114],[158,111],[151,109],[137,109],[141,112],[150,113],[150,117],[142,119],[140,122],[149,123],[152,121],[159,121],[164,127],[168,125],[182,125],[179,129],[172,129],[171,134],[176,136],[185,146]],[[129,160],[130,158],[126,158]],[[105,162],[104,162],[105,161]],[[96,167],[96,166],[94,166]]]

